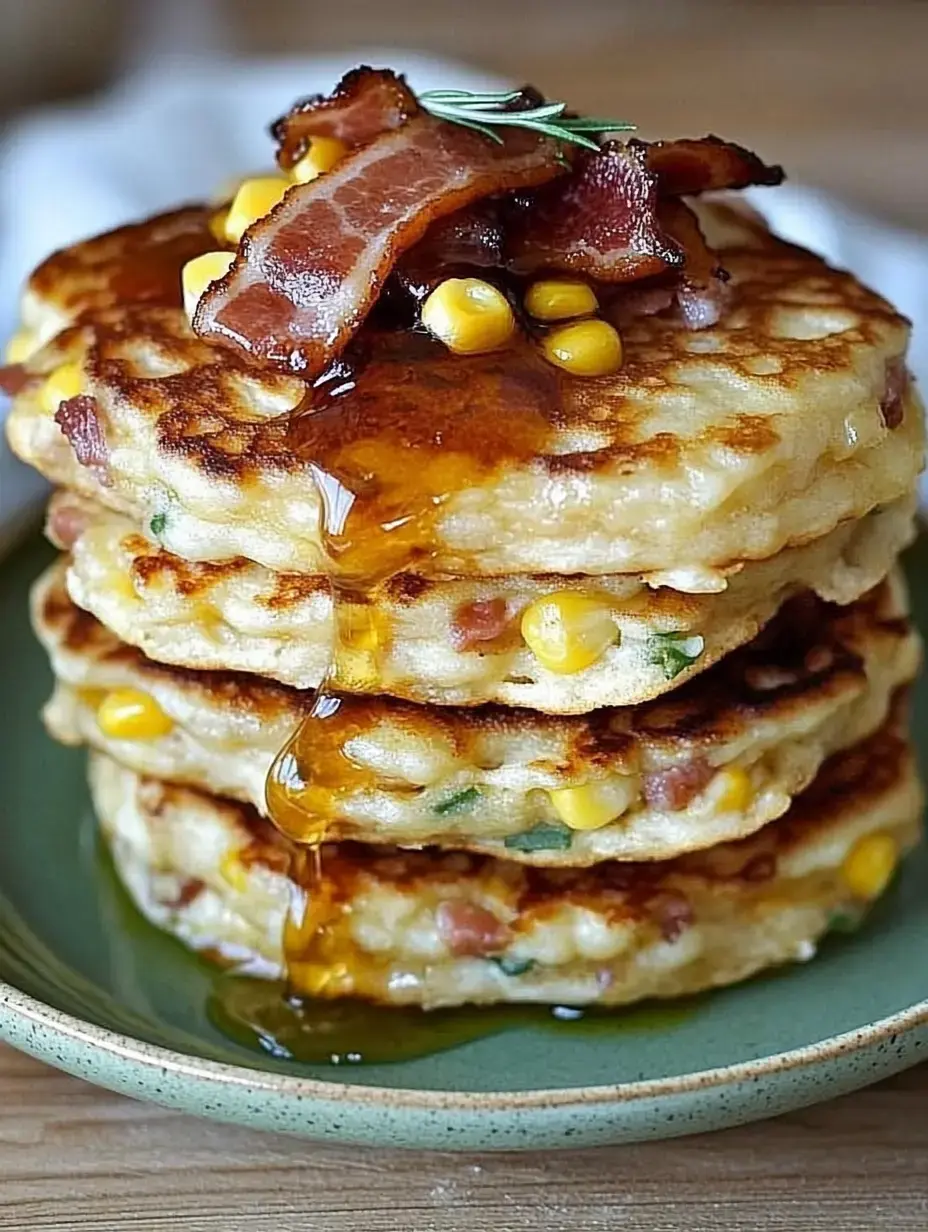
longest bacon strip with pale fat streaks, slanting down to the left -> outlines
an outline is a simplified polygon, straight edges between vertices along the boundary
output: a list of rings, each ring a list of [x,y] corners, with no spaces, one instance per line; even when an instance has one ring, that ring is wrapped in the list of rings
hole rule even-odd
[[[200,299],[195,330],[314,378],[373,306],[402,253],[438,218],[561,174],[557,145],[525,129],[497,145],[420,112],[297,185]]]

